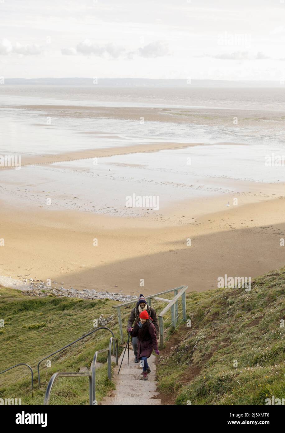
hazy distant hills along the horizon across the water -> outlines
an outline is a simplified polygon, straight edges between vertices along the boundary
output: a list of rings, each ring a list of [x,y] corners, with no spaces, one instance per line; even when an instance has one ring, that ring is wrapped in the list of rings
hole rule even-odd
[[[5,78],[5,84],[14,85],[53,85],[53,86],[94,86],[93,78]],[[4,85],[5,85],[4,84]],[[151,78],[98,78],[98,86],[157,86],[157,87],[280,87],[279,81],[224,81]]]

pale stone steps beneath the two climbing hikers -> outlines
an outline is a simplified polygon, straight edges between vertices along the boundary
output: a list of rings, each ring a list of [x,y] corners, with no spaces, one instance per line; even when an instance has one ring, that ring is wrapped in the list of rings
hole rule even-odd
[[[147,362],[151,368],[151,372],[147,375],[148,380],[140,380],[142,368],[140,364],[134,363],[134,352],[129,350],[129,366],[128,366],[128,349],[125,352],[124,360],[120,373],[122,352],[118,365],[115,367],[113,381],[116,389],[112,391],[112,395],[105,397],[100,403],[103,405],[158,405],[161,400],[157,398],[159,393],[156,391],[157,382],[155,381],[155,356],[151,355]]]

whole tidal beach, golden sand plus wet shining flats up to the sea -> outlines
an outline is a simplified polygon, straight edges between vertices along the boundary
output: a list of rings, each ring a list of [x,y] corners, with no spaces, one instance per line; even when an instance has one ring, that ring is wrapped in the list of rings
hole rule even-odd
[[[124,106],[107,89],[94,106],[87,92],[11,89],[1,152],[22,166],[0,169],[0,275],[137,295],[284,265],[284,167],[264,162],[282,151],[281,103],[195,90],[191,107],[179,92],[167,107],[163,90],[126,90]]]

